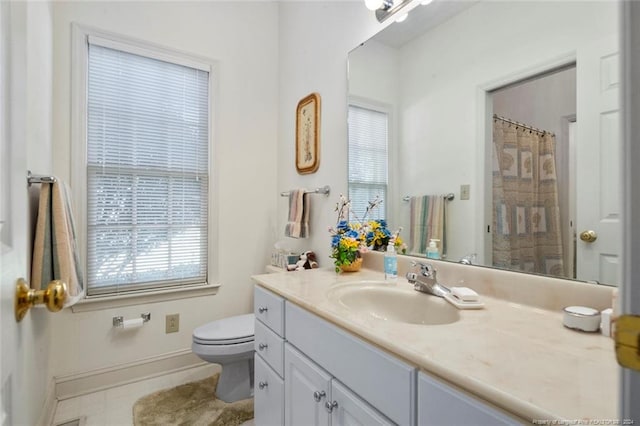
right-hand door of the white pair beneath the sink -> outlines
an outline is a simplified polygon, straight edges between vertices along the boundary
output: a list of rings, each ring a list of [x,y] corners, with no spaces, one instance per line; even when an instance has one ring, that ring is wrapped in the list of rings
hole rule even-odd
[[[331,426],[394,424],[336,379],[331,382],[331,397]]]

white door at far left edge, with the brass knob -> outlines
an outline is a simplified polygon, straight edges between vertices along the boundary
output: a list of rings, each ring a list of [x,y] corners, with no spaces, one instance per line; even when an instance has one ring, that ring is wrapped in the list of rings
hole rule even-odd
[[[28,424],[20,396],[27,357],[22,329],[13,312],[16,280],[27,276],[27,181],[25,141],[25,61],[21,48],[24,8],[0,2],[0,424]],[[27,321],[28,322],[28,321]],[[27,324],[29,326],[30,324]],[[22,326],[22,327],[20,327]],[[40,407],[38,407],[38,410]],[[33,410],[35,411],[35,409]],[[3,421],[4,417],[4,421]]]

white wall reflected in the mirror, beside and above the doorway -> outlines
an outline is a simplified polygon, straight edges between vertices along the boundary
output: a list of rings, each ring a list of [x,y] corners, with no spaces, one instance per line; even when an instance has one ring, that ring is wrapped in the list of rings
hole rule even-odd
[[[481,89],[575,55],[582,43],[613,33],[616,24],[613,2],[486,1],[402,49],[399,157],[406,173],[400,187],[408,194],[456,194],[450,204],[450,259],[479,251],[486,227]],[[461,184],[471,184],[469,201],[459,199]]]

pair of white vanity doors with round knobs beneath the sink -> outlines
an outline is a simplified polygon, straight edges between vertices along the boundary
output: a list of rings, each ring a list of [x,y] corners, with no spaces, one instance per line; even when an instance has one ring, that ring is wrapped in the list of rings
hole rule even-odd
[[[324,369],[285,345],[285,425],[393,425]]]

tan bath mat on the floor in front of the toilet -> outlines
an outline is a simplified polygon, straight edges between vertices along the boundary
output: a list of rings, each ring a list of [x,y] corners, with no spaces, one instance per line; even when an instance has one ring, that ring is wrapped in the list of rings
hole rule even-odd
[[[227,403],[215,398],[220,375],[161,390],[133,405],[134,426],[237,426],[253,418],[253,398]]]

